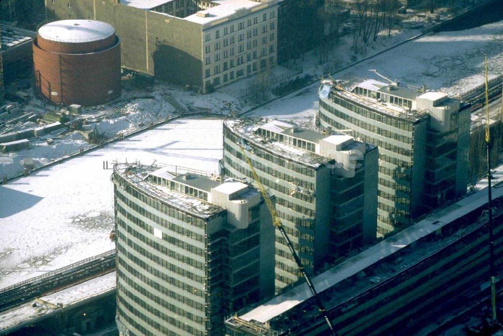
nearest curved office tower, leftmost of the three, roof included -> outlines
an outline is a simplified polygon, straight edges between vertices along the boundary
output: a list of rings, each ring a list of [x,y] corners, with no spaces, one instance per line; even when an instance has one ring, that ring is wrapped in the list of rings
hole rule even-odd
[[[274,293],[260,192],[139,163],[115,165],[113,181],[120,332],[221,335],[232,311]]]

